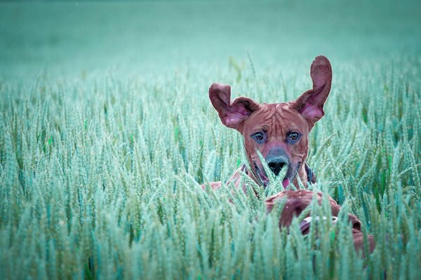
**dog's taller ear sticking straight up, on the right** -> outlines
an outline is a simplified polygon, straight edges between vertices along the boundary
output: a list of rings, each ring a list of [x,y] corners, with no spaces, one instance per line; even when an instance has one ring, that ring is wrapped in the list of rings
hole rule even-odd
[[[329,60],[323,55],[316,57],[310,67],[310,76],[313,80],[313,89],[307,90],[297,100],[291,102],[291,106],[314,125],[324,116],[323,104],[330,92],[332,67]]]

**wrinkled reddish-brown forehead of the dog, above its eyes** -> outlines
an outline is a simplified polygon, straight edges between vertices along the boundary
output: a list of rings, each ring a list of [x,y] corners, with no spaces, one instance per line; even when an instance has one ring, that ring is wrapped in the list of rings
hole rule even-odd
[[[249,130],[307,132],[307,123],[301,114],[288,103],[260,104],[258,111],[253,112],[246,121]]]

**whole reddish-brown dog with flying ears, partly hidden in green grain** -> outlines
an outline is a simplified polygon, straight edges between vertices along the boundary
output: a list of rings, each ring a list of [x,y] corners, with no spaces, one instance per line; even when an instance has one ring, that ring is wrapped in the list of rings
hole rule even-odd
[[[332,67],[324,56],[314,59],[310,67],[313,87],[292,102],[275,104],[258,104],[248,97],[238,97],[231,101],[231,87],[213,83],[209,88],[209,99],[223,125],[237,130],[243,135],[244,148],[250,169],[243,165],[229,179],[227,184],[240,187],[241,173],[247,174],[258,186],[266,188],[269,179],[260,160],[260,155],[266,161],[270,171],[275,176],[286,169],[282,179],[283,188],[292,183],[298,190],[284,190],[267,198],[267,211],[272,211],[274,204],[285,200],[279,219],[280,227],[288,227],[294,216],[299,216],[312,202],[314,192],[299,190],[298,178],[303,186],[316,183],[316,176],[305,161],[309,151],[309,132],[315,123],[324,116],[323,105],[330,93],[332,83]],[[210,187],[218,190],[221,182],[211,182]],[[246,191],[246,187],[242,186]],[[202,186],[204,188],[204,186]],[[257,195],[257,193],[256,193]],[[321,193],[316,194],[321,202]],[[333,223],[340,211],[340,205],[329,198]],[[324,217],[323,217],[324,218]],[[363,234],[359,219],[349,214],[352,223],[354,247],[363,248]],[[312,223],[310,214],[301,221],[302,234],[309,232]],[[368,236],[370,251],[374,249],[374,240]]]

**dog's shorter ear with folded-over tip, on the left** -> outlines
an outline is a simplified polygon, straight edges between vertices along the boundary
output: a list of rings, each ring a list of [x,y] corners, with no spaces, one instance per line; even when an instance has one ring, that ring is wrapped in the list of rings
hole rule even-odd
[[[209,99],[218,111],[221,122],[239,130],[239,125],[250,116],[260,105],[247,97],[238,97],[231,101],[231,87],[220,83],[213,83],[209,88]]]

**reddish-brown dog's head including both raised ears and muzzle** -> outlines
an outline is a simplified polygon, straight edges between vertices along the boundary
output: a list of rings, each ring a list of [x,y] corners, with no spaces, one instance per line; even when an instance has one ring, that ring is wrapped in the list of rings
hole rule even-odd
[[[314,59],[310,68],[312,90],[288,103],[258,104],[247,97],[231,102],[231,87],[214,83],[209,98],[221,122],[238,130],[244,137],[244,146],[250,167],[263,186],[268,183],[258,151],[277,176],[288,168],[283,186],[293,182],[304,164],[309,149],[308,135],[314,123],[323,117],[323,104],[328,98],[332,69],[326,57]]]

